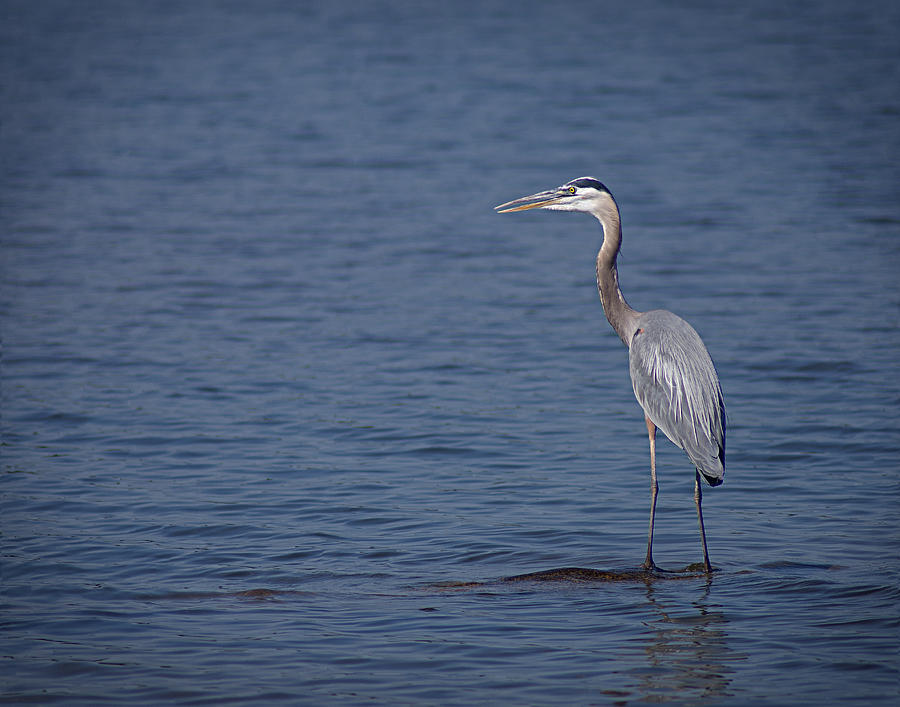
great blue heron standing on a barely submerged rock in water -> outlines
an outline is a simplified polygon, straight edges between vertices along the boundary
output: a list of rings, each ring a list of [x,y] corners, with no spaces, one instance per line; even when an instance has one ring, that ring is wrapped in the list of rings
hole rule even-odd
[[[616,257],[622,243],[619,207],[594,177],[579,177],[560,187],[514,199],[495,207],[499,213],[549,209],[591,214],[603,227],[603,245],[597,254],[597,289],[606,318],[628,347],[628,368],[638,403],[644,409],[650,437],[650,528],[647,557],[653,562],[653,520],[656,515],[656,430],[661,429],[683,449],[696,468],[694,502],[703,544],[703,565],[712,572],[706,549],[701,510],[700,479],[718,486],[725,477],[725,401],[719,377],[706,346],[694,328],[671,312],[632,309],[619,289]]]

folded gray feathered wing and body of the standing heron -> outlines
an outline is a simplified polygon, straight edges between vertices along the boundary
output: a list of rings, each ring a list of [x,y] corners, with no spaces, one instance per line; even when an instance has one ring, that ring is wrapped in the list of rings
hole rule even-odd
[[[725,474],[725,403],[700,336],[665,310],[643,313],[629,346],[634,395],[711,484]]]

